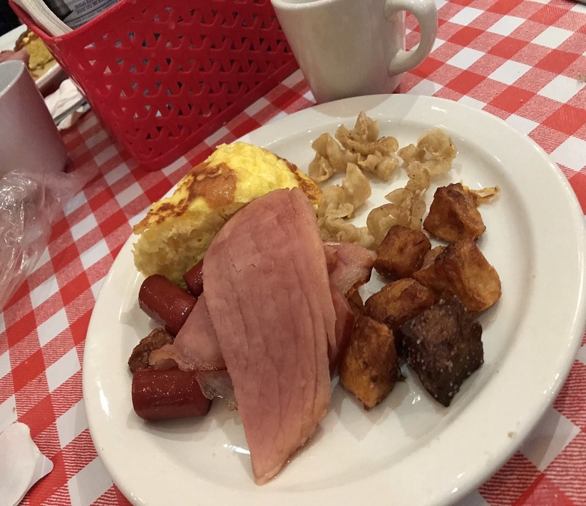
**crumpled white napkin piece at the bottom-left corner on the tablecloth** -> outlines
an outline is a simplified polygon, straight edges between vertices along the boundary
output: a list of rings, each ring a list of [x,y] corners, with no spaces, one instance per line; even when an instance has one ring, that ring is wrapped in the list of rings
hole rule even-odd
[[[0,506],[19,504],[52,470],[53,463],[36,447],[28,425],[13,423],[0,434]]]

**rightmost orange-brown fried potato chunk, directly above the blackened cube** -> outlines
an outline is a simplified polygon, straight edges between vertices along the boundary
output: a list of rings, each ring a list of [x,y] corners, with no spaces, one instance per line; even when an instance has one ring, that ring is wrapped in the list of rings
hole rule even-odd
[[[437,296],[444,292],[458,296],[473,313],[487,309],[500,299],[498,273],[473,239],[452,242],[431,266],[418,270],[413,277]]]

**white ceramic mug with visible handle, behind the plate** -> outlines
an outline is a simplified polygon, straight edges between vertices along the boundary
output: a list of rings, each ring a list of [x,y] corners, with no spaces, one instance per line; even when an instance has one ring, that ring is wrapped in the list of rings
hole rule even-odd
[[[392,93],[404,72],[430,53],[434,0],[271,0],[295,58],[318,102]],[[421,27],[405,51],[405,11]]]

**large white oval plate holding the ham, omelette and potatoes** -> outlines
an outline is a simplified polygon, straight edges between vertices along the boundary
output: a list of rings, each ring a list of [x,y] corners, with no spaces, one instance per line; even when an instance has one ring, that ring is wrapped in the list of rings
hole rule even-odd
[[[458,103],[411,95],[352,98],[289,115],[246,135],[299,167],[311,143],[365,110],[400,145],[431,127],[451,134],[450,177],[498,185],[479,240],[503,297],[481,316],[485,363],[450,408],[412,375],[365,412],[340,387],[322,428],[267,485],[252,480],[242,423],[221,403],[201,420],[144,423],[133,412],[126,361],[148,334],[131,244],[115,259],[93,311],[83,397],[98,454],[136,505],[439,505],[458,500],[502,465],[552,402],[585,326],[585,227],[580,206],[543,150],[503,121]],[[404,171],[402,171],[404,172]],[[405,184],[391,180],[390,187]],[[388,184],[369,203],[384,202]],[[428,202],[433,188],[428,192]],[[357,220],[365,220],[362,213]],[[371,281],[373,286],[379,280]],[[376,286],[374,286],[376,285]]]

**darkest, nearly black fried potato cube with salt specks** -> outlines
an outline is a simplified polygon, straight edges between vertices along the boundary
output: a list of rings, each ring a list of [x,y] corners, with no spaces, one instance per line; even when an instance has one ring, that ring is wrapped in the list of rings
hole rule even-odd
[[[408,364],[443,406],[484,361],[482,326],[456,296],[440,299],[401,326]]]

